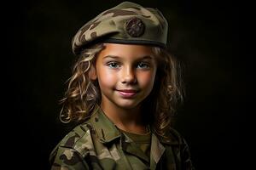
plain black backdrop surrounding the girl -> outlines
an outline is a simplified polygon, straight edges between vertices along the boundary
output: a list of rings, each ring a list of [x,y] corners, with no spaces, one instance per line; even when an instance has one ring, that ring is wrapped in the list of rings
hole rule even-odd
[[[70,127],[58,120],[74,57],[71,39],[84,23],[121,1],[7,2],[3,81],[7,93],[10,167],[49,169],[55,144]],[[133,1],[159,8],[169,45],[184,65],[186,98],[176,128],[187,139],[196,169],[241,165],[247,75],[239,44],[240,10],[231,1]],[[5,120],[4,120],[5,121]],[[15,161],[13,161],[15,160]]]

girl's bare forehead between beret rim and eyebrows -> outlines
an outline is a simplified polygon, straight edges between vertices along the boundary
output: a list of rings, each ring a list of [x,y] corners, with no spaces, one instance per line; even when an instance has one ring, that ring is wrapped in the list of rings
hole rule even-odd
[[[104,43],[100,56],[114,55],[119,57],[139,58],[144,56],[154,57],[152,47],[137,44]]]

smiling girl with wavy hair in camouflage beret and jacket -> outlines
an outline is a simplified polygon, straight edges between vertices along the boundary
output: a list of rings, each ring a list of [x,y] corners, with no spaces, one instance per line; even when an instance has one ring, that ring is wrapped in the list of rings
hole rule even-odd
[[[79,29],[61,111],[79,125],[52,151],[52,169],[193,169],[171,127],[183,93],[167,30],[159,10],[130,2]]]

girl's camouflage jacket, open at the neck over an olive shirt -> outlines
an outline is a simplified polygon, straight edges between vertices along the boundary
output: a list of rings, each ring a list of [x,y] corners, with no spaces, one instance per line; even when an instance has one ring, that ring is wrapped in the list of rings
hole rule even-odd
[[[137,144],[114,126],[99,106],[87,122],[75,127],[57,144],[50,162],[52,170],[194,169],[188,144],[175,130],[172,129],[169,139],[152,133],[148,158]]]

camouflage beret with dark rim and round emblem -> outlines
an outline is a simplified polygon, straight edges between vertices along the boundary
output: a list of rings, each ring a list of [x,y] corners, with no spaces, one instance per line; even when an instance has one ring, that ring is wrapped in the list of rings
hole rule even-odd
[[[150,44],[166,47],[168,23],[157,8],[124,2],[87,22],[72,40],[73,54],[91,42]]]

